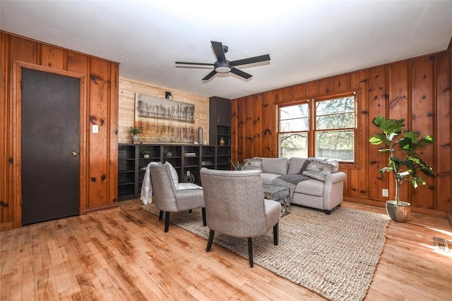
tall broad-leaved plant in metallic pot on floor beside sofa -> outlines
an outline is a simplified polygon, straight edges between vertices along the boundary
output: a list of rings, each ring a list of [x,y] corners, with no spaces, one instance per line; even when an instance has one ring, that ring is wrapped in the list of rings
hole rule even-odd
[[[381,176],[386,172],[394,174],[396,184],[396,197],[394,200],[386,201],[386,211],[393,221],[405,222],[410,215],[410,203],[400,201],[400,186],[405,182],[410,182],[414,188],[418,185],[425,185],[420,172],[425,176],[434,178],[435,174],[432,167],[421,158],[417,152],[428,145],[434,143],[434,137],[425,135],[419,137],[419,134],[413,131],[405,131],[405,119],[386,119],[383,116],[377,116],[372,123],[378,127],[381,132],[376,133],[369,138],[372,145],[381,145],[386,147],[379,149],[379,152],[388,152],[388,166],[380,169]],[[397,152],[397,153],[396,153]]]

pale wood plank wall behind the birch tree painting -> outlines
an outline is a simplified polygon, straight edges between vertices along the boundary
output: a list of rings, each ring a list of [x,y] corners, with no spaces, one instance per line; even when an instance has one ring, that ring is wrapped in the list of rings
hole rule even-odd
[[[139,82],[129,78],[119,78],[119,143],[130,143],[131,135],[127,132],[133,126],[135,119],[135,93],[165,98],[165,92],[171,92],[172,99],[177,102],[186,102],[195,105],[195,128],[201,125],[204,140],[209,137],[209,98],[189,92],[173,90],[169,87],[160,87],[148,82]],[[195,131],[195,140],[198,132]],[[145,141],[143,141],[145,142]],[[202,141],[201,141],[202,143]]]

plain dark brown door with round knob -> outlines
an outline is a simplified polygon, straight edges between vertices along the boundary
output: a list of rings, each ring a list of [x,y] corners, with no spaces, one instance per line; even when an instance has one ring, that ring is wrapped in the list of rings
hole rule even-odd
[[[22,69],[22,224],[80,213],[80,80]]]

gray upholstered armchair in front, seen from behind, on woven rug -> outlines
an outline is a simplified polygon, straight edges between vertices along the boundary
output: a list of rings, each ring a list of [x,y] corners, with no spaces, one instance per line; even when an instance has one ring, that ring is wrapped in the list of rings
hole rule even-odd
[[[201,168],[207,226],[206,252],[210,252],[215,231],[236,238],[248,238],[249,266],[253,267],[252,238],[273,227],[273,244],[278,245],[280,202],[263,198],[260,171],[217,171]]]

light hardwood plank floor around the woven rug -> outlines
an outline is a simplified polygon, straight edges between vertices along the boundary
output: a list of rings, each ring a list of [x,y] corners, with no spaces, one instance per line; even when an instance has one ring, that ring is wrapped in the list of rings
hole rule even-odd
[[[343,207],[385,213],[345,202]],[[219,246],[141,210],[139,200],[0,233],[0,300],[323,300]],[[388,226],[365,300],[451,300],[446,219],[412,214]]]

